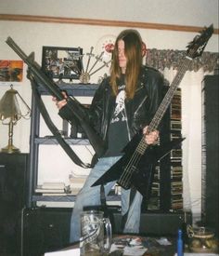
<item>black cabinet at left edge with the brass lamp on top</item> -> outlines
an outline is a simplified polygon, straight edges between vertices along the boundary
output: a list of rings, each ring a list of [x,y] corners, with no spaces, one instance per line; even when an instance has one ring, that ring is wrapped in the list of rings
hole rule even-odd
[[[19,212],[25,205],[28,154],[0,153],[0,255],[19,255]]]

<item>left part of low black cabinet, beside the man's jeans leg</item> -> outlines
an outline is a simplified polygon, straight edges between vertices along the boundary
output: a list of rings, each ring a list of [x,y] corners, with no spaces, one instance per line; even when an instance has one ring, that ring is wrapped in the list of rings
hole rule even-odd
[[[21,256],[41,256],[69,246],[72,209],[23,209]]]

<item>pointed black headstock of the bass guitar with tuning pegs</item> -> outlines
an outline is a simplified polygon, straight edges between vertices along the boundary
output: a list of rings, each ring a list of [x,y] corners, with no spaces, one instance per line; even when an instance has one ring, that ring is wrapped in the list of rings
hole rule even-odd
[[[205,27],[200,34],[196,35],[187,46],[187,57],[190,59],[200,57],[212,34],[213,24],[208,28]]]

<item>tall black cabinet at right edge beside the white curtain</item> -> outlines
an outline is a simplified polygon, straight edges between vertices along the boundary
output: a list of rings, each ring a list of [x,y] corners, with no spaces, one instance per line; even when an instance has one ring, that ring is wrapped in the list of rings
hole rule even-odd
[[[206,165],[202,165],[201,216],[204,225],[213,228],[219,237],[219,74],[206,75],[203,80],[203,128]]]

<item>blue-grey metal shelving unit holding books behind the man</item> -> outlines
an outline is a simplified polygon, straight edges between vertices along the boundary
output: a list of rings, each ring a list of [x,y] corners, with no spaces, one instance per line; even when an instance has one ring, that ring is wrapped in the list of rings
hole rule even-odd
[[[60,90],[65,90],[68,95],[74,97],[93,97],[99,85],[97,84],[79,84],[79,81],[73,81],[75,83],[65,83],[65,82],[54,82],[58,85]],[[42,83],[35,83],[33,85],[37,88],[41,96],[50,96],[51,94],[45,88]],[[38,161],[39,161],[39,151],[42,149],[43,145],[58,145],[58,141],[55,136],[48,135],[45,137],[40,136],[40,111],[37,108],[37,102],[35,98],[32,98],[32,124],[31,124],[31,140],[30,140],[30,163],[29,163],[29,173],[28,173],[28,195],[27,195],[27,207],[32,207],[38,200],[41,201],[74,201],[75,195],[61,195],[61,196],[42,196],[32,194],[33,188],[37,184],[38,177]],[[63,124],[64,128],[64,124]],[[67,133],[65,133],[67,134]],[[84,138],[70,138],[62,136],[64,141],[70,145],[84,145],[89,146],[90,142],[88,139]]]

